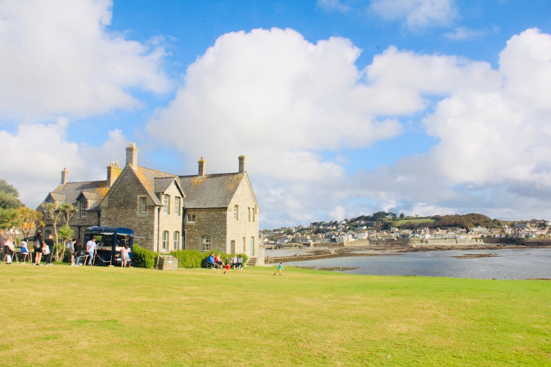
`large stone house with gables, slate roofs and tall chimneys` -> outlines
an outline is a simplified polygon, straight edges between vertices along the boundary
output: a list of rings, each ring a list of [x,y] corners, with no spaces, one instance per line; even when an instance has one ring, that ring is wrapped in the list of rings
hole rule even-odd
[[[197,175],[178,176],[138,166],[132,143],[126,147],[126,166],[111,163],[105,181],[69,183],[64,169],[61,184],[45,202],[77,206],[69,223],[75,237],[83,238],[92,225],[128,227],[143,237],[138,244],[159,253],[193,249],[256,258],[260,208],[245,160],[239,157],[236,173],[207,174],[201,158]],[[45,231],[51,231],[51,220],[46,224]]]

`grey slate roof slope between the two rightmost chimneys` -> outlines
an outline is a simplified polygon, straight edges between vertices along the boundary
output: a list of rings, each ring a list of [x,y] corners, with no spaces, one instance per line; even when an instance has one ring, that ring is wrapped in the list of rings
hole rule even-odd
[[[224,208],[230,205],[244,173],[206,174],[203,177],[180,176],[186,193],[186,208]]]

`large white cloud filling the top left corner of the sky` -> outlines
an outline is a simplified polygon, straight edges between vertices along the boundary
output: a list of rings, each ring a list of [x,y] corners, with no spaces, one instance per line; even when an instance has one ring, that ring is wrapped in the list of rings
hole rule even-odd
[[[162,44],[109,32],[109,0],[0,2],[0,118],[85,117],[170,88]]]

